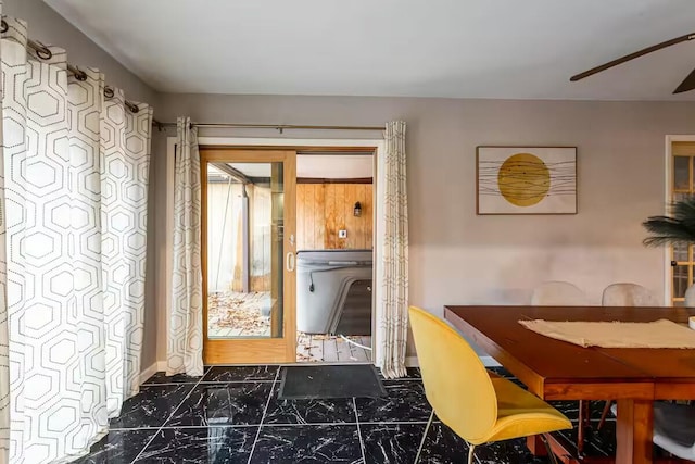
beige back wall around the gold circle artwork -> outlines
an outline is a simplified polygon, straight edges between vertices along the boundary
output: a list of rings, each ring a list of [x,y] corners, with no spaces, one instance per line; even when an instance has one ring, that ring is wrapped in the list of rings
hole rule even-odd
[[[594,304],[621,280],[661,298],[662,251],[642,246],[640,224],[664,211],[665,136],[695,133],[694,103],[165,95],[160,114],[270,124],[405,120],[410,302],[434,314],[447,303],[525,303],[547,279],[576,283]],[[577,146],[579,214],[477,216],[478,145]]]

